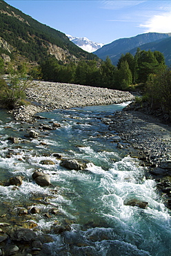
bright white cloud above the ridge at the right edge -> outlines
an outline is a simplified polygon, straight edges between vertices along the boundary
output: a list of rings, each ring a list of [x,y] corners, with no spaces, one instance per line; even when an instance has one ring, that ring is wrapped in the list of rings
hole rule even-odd
[[[146,28],[145,33],[171,33],[171,12],[163,15],[154,15],[145,24],[140,24],[139,27]]]

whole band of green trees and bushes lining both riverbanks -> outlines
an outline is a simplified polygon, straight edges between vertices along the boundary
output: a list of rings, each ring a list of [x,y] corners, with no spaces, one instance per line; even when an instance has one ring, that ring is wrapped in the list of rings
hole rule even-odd
[[[81,60],[77,64],[63,64],[50,56],[33,68],[26,65],[14,67],[12,64],[4,66],[0,59],[0,72],[8,73],[8,80],[1,78],[0,81],[0,100],[10,108],[22,104],[26,97],[28,75],[32,75],[33,79],[52,82],[141,91],[143,98],[139,98],[139,104],[148,102],[152,109],[161,108],[163,113],[171,116],[171,72],[159,51],[141,51],[137,48],[134,56],[130,53],[121,55],[117,66],[112,65],[109,57],[101,62]]]

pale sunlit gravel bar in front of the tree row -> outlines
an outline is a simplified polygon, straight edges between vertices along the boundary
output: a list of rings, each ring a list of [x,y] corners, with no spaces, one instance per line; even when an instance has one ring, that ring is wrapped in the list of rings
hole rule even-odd
[[[117,104],[134,100],[134,95],[127,91],[44,81],[33,81],[26,90],[26,95],[32,104],[13,111],[16,120],[26,122],[33,121],[34,114],[42,111]]]

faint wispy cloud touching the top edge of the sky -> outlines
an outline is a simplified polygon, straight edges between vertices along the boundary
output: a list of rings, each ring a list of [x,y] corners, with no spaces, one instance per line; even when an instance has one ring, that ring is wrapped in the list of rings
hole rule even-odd
[[[132,6],[137,6],[139,3],[143,3],[145,1],[132,1],[132,0],[114,0],[114,1],[102,1],[101,2],[101,7],[103,9],[110,9],[110,10],[119,10],[123,8],[128,8]]]

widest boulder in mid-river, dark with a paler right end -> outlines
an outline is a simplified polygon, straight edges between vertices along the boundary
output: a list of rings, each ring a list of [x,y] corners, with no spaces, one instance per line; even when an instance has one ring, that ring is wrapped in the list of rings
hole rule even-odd
[[[60,165],[70,170],[84,170],[87,164],[76,159],[66,159],[61,161]]]

